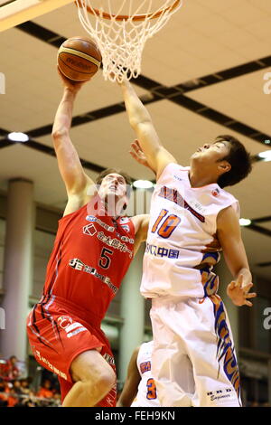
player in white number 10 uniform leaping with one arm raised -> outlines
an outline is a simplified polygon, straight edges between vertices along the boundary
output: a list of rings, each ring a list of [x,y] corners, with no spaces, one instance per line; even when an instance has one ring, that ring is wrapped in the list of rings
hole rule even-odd
[[[220,250],[237,306],[252,306],[238,201],[223,187],[251,171],[245,147],[220,136],[201,146],[190,167],[162,146],[132,85],[122,83],[126,110],[146,161],[156,174],[141,292],[153,298],[153,374],[162,406],[240,406],[238,364],[229,320],[211,271]]]

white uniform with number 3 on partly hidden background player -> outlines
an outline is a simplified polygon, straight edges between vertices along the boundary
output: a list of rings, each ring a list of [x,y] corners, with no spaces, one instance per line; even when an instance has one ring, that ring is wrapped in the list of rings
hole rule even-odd
[[[160,407],[152,374],[152,353],[154,341],[140,346],[137,355],[137,368],[141,376],[135,400],[131,407]]]

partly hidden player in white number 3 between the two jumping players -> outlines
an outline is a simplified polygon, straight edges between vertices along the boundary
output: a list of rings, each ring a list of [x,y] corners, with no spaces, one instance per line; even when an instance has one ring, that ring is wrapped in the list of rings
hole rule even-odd
[[[154,341],[135,348],[117,407],[160,407],[152,373]]]

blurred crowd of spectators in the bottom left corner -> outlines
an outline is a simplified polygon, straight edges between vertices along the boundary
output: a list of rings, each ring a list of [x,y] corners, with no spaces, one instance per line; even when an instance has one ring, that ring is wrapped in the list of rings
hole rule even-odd
[[[50,379],[44,379],[38,391],[34,391],[32,378],[22,378],[17,358],[10,357],[0,364],[0,407],[60,406],[59,388]]]

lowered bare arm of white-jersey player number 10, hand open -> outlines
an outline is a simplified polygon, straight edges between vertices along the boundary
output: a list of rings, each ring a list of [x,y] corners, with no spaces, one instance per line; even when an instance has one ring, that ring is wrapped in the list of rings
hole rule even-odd
[[[224,252],[224,258],[234,280],[227,288],[227,294],[236,306],[251,307],[249,298],[257,294],[249,293],[252,288],[252,276],[238,222],[238,216],[232,206],[222,210],[217,220],[218,237]]]

